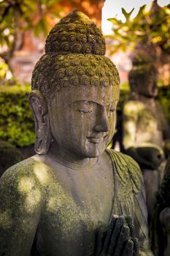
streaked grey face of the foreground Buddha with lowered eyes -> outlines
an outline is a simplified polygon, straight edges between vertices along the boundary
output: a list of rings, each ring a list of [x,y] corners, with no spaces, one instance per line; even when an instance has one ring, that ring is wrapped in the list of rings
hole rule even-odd
[[[119,91],[79,86],[58,91],[49,106],[56,145],[77,158],[98,157],[112,139]]]

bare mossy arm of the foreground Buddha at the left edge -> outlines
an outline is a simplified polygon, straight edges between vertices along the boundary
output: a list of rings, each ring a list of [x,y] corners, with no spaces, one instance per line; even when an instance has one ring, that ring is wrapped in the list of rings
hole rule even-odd
[[[40,217],[36,180],[9,168],[0,179],[0,255],[28,256]]]

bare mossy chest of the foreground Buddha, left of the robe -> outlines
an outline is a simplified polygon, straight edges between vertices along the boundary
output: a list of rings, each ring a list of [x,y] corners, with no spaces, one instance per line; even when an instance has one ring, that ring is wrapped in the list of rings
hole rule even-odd
[[[49,255],[93,255],[98,229],[112,211],[113,180],[108,174],[59,178],[47,189],[39,230]]]

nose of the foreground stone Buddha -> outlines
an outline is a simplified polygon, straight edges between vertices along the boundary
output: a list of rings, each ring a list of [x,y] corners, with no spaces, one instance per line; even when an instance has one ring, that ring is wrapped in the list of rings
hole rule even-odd
[[[96,117],[96,125],[93,129],[96,132],[108,132],[109,131],[107,110],[105,108],[101,108],[100,110],[98,110],[98,115]]]

